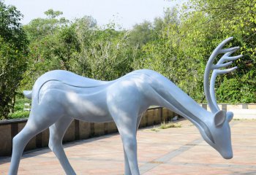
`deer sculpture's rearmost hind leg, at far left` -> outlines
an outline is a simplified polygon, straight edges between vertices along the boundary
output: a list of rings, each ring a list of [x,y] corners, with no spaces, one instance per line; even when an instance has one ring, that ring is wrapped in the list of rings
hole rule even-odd
[[[49,128],[50,125],[53,125],[53,123],[56,122],[56,120],[57,117],[48,117],[42,113],[37,116],[36,119],[33,112],[31,112],[29,120],[23,130],[20,131],[20,133],[18,133],[18,135],[16,135],[12,140],[12,159],[9,175],[18,174],[20,158],[29,140],[36,136],[38,133],[44,131],[46,128]]]

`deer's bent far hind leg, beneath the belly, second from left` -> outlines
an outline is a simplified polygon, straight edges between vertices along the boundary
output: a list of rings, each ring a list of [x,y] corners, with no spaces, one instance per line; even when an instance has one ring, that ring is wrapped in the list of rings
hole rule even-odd
[[[49,139],[50,149],[59,159],[62,168],[64,168],[65,173],[68,175],[75,174],[75,171],[70,165],[69,160],[67,159],[67,155],[64,152],[62,147],[62,139],[72,120],[73,119],[69,117],[62,117],[56,123],[54,123],[54,125],[51,125]]]

